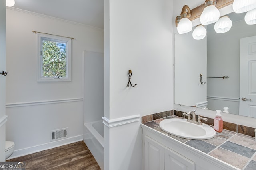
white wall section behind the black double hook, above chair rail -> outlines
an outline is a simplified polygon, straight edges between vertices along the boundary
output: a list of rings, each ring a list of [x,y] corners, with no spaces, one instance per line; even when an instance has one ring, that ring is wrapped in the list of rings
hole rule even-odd
[[[110,119],[172,108],[172,1],[134,3],[110,1]]]

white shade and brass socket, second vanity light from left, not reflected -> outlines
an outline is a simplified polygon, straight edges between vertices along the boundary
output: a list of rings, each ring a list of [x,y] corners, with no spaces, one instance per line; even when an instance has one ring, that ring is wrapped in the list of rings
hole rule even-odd
[[[220,18],[220,11],[215,7],[216,0],[206,0],[204,2],[205,7],[200,16],[200,22],[202,25],[208,25],[217,22]]]

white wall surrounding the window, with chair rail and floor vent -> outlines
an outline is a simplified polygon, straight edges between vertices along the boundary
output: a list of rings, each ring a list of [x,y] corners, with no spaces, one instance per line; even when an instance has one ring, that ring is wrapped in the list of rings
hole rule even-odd
[[[104,31],[15,8],[6,16],[6,139],[12,157],[82,140],[83,52],[103,52]],[[74,37],[72,82],[36,82],[36,34]],[[86,119],[86,118],[85,118]],[[68,127],[68,139],[50,142],[50,130]]]

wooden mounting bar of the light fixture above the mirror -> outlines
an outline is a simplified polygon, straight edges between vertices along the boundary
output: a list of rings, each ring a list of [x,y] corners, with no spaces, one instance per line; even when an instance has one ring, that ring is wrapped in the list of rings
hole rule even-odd
[[[216,8],[221,9],[225,6],[228,6],[230,4],[233,4],[234,0],[216,0]],[[188,18],[190,21],[195,20],[196,18],[200,18],[203,10],[204,10],[205,4],[201,4],[200,6],[193,8],[190,10],[191,16]]]

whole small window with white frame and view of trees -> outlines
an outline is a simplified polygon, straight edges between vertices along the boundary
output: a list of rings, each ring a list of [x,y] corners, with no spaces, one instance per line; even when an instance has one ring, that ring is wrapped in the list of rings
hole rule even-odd
[[[71,81],[71,41],[38,33],[38,82]]]

